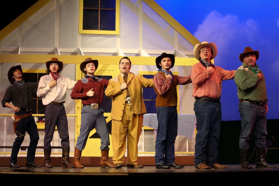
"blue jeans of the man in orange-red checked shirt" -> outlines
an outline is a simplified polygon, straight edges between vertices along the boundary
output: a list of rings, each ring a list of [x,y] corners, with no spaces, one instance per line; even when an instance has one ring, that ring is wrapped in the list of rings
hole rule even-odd
[[[221,103],[198,100],[194,103],[197,118],[195,145],[195,167],[205,163],[212,166],[217,163],[218,142],[221,128]]]

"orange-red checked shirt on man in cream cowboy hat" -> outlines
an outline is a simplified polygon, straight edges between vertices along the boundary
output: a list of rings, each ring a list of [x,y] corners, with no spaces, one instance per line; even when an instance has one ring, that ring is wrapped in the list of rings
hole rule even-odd
[[[221,98],[222,81],[233,79],[235,70],[224,70],[221,67],[213,66],[214,72],[211,73],[200,62],[192,67],[191,79],[193,83],[194,97]]]

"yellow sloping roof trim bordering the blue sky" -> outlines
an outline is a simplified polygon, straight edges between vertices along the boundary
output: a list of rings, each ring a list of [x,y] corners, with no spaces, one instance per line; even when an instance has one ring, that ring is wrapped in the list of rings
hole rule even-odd
[[[193,46],[201,43],[194,35],[186,30],[178,21],[176,21],[169,13],[158,5],[154,0],[143,0],[150,8],[152,8],[160,17],[162,17],[171,27],[174,28],[182,37],[188,40]]]

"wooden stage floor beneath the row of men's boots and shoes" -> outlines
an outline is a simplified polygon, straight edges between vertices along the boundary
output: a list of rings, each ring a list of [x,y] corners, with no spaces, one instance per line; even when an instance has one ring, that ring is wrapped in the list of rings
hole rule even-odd
[[[141,169],[131,169],[123,166],[121,169],[112,169],[112,168],[101,168],[101,167],[84,167],[84,169],[76,169],[76,168],[62,168],[62,167],[53,167],[52,169],[47,169],[44,167],[41,168],[26,168],[25,166],[21,166],[19,169],[28,169],[29,172],[23,171],[14,171],[14,169],[10,167],[0,167],[3,169],[0,171],[1,176],[4,174],[23,174],[23,175],[92,175],[92,176],[135,176],[135,175],[160,175],[160,174],[168,174],[174,176],[176,174],[212,174],[212,173],[253,173],[253,172],[276,172],[279,173],[279,164],[274,169],[256,169],[255,164],[251,164],[253,169],[241,169],[240,165],[228,165],[226,169],[206,169],[206,170],[198,170],[195,169],[194,166],[185,166],[183,169],[156,169],[155,166],[145,166]],[[10,169],[10,170],[7,170]]]

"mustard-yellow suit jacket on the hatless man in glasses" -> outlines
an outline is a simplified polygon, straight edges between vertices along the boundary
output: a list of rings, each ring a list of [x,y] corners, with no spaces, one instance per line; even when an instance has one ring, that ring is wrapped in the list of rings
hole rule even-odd
[[[108,87],[105,90],[105,95],[112,98],[111,118],[117,121],[122,120],[127,95],[126,89],[121,91],[123,81],[121,74],[119,74],[109,80]],[[146,113],[142,97],[142,87],[153,87],[153,79],[147,79],[140,74],[129,72],[127,87],[130,92],[133,113]]]

